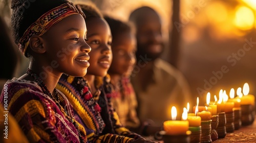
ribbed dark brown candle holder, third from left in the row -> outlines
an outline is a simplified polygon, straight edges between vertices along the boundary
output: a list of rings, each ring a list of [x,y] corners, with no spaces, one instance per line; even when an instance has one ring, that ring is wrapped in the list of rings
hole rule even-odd
[[[211,120],[208,121],[201,121],[201,142],[211,142],[210,132],[211,132]]]

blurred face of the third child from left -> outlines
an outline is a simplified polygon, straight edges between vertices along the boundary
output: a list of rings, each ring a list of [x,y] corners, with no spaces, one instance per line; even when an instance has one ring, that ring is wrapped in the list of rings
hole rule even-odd
[[[136,39],[130,32],[120,33],[112,42],[113,61],[110,74],[131,74],[136,62]]]

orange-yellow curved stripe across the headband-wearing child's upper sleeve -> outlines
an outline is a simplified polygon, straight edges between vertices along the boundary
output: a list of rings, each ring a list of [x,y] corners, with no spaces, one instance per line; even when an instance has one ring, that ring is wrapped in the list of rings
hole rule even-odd
[[[26,113],[29,113],[32,116],[35,113],[39,113],[44,118],[46,117],[44,106],[42,106],[41,102],[37,100],[31,100],[27,102],[22,108],[20,108],[14,116],[16,121],[19,122]]]

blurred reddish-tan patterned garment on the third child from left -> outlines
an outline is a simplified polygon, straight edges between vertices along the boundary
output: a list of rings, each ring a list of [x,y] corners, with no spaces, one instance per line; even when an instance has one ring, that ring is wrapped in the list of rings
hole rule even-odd
[[[138,128],[140,121],[136,112],[137,99],[130,79],[122,77],[117,86],[111,93],[111,101],[119,120],[126,128]]]

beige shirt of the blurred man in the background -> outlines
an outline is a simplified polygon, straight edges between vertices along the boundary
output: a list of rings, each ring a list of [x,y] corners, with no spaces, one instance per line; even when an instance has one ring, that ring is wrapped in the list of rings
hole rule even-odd
[[[187,107],[187,102],[191,101],[187,81],[178,69],[161,59],[154,61],[153,73],[153,77],[149,77],[152,82],[145,90],[140,86],[139,74],[132,77],[140,120],[150,119],[161,126],[164,121],[171,119],[172,106],[177,108],[177,120],[180,120],[183,107]]]

